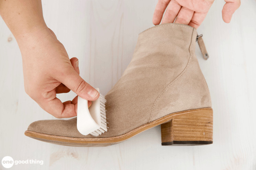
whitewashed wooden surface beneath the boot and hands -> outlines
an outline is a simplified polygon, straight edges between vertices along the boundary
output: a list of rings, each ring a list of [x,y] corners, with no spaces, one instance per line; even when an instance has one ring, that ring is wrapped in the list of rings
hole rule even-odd
[[[129,64],[138,33],[153,26],[157,0],[44,0],[45,21],[70,57],[79,58],[81,76],[106,94]],[[54,119],[23,87],[18,45],[0,18],[0,159],[43,160],[43,165],[11,169],[256,169],[256,1],[243,0],[230,24],[215,1],[199,34],[210,55],[198,60],[214,110],[214,142],[203,146],[161,146],[160,127],[108,147],[59,146],[26,137],[36,120]],[[65,101],[74,93],[59,95]],[[4,169],[0,165],[0,169]]]

